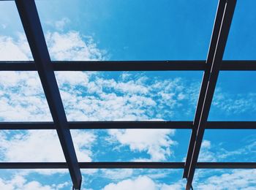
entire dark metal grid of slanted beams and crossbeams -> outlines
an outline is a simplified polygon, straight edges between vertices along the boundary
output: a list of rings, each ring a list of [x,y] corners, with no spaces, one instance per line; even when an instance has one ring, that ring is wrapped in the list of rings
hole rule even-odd
[[[256,162],[197,162],[205,129],[256,129],[256,121],[207,121],[219,71],[255,71],[256,61],[222,61],[236,0],[219,0],[206,61],[50,61],[34,0],[15,0],[34,61],[0,61],[0,71],[37,71],[53,122],[1,122],[0,129],[56,129],[66,162],[1,162],[0,169],[68,168],[80,189],[80,168],[179,168],[192,189],[196,168],[256,168]],[[223,64],[222,64],[223,63]],[[68,122],[54,71],[203,71],[194,121]],[[186,162],[78,162],[69,129],[192,129]]]

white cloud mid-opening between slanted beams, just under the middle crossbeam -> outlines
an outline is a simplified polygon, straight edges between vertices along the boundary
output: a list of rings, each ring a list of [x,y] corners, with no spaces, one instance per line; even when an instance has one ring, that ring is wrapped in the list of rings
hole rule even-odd
[[[172,153],[170,147],[177,142],[171,140],[173,129],[110,129],[112,140],[129,145],[131,151],[146,151],[152,161],[166,160]]]

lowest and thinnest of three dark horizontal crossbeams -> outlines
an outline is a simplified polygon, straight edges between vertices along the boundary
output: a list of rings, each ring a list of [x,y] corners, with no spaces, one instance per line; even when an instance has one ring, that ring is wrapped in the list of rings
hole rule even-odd
[[[79,162],[83,169],[183,169],[184,162]],[[198,162],[197,169],[256,169],[256,162]],[[0,162],[0,169],[67,169],[65,162]]]

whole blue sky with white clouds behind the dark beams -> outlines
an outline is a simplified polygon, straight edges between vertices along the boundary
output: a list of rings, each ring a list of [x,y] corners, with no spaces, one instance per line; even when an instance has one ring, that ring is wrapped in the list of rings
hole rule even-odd
[[[206,60],[217,1],[36,1],[52,60]],[[254,0],[224,59],[255,60]],[[0,1],[0,60],[33,60]],[[192,121],[203,72],[56,72],[69,121]],[[220,72],[209,121],[255,121],[256,72]],[[247,85],[251,84],[251,85]],[[0,72],[0,121],[52,121],[36,72]],[[79,161],[184,161],[190,131],[72,130]],[[255,161],[254,130],[206,130],[200,161]],[[40,147],[40,149],[38,149]],[[1,161],[64,161],[56,132],[0,132]],[[184,189],[182,170],[82,170],[83,189]],[[195,189],[255,189],[256,170],[196,170]],[[0,189],[70,189],[67,170],[0,170]]]

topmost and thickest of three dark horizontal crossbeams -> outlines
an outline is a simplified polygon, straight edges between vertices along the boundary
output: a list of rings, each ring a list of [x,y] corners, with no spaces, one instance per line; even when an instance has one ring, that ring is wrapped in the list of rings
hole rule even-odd
[[[52,61],[54,71],[204,71],[206,61]],[[0,61],[0,71],[36,71],[34,61]],[[222,71],[255,71],[256,61],[222,61]]]

